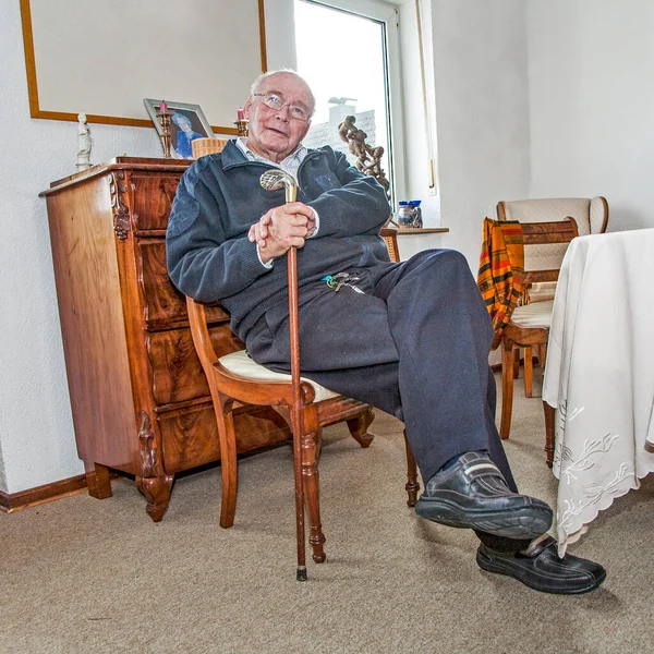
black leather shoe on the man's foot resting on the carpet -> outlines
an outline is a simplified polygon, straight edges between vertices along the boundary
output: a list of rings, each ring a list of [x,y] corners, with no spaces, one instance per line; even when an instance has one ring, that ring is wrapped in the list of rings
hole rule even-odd
[[[507,574],[542,593],[578,595],[594,591],[606,579],[606,570],[600,564],[571,554],[559,558],[552,536],[528,554],[495,552],[482,544],[476,559],[482,570]]]

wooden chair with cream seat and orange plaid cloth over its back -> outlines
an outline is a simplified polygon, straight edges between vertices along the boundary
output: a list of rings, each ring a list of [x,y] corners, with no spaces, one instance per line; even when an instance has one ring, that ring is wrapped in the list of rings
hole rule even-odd
[[[568,217],[556,222],[523,222],[521,223],[522,238],[525,249],[532,245],[543,244],[568,244],[579,232],[577,222]],[[516,272],[514,272],[516,274]],[[558,268],[546,270],[533,270],[528,268],[525,256],[525,269],[522,272],[524,284],[556,281]],[[505,327],[501,339],[501,421],[499,435],[506,439],[511,431],[511,410],[513,405],[513,364],[516,350],[519,348],[536,347],[542,352],[542,365],[545,365],[547,352],[547,338],[549,337],[549,325],[552,323],[552,307],[554,301],[534,302],[517,306],[511,315],[510,323]],[[552,468],[554,458],[554,420],[552,413],[545,411],[545,452],[547,453],[547,465]]]

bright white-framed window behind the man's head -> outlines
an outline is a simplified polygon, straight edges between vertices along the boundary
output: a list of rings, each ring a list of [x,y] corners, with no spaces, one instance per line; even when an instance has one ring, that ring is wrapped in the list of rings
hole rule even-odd
[[[384,147],[382,166],[396,196],[399,175],[393,166],[393,136],[400,130],[392,126],[400,117],[395,107],[391,112],[389,70],[391,50],[397,49],[396,9],[373,0],[295,0],[294,9],[298,72],[316,97],[304,144],[330,145],[353,164],[338,125],[346,116],[354,116],[367,143]]]

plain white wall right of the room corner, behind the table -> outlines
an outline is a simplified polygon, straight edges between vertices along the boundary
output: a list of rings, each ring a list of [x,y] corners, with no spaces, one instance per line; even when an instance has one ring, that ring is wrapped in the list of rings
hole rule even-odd
[[[531,197],[604,195],[654,227],[654,2],[531,0]]]

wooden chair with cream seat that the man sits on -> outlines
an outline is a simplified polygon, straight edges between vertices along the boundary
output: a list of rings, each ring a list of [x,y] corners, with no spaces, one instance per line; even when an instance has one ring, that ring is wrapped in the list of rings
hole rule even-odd
[[[296,279],[293,280],[293,284],[296,289]],[[186,298],[186,306],[193,343],[207,377],[218,424],[222,467],[220,525],[229,528],[234,521],[238,485],[234,413],[251,405],[271,407],[292,428],[293,385],[291,375],[274,373],[252,361],[244,346],[243,349],[218,358],[211,343],[204,304]],[[238,342],[238,339],[235,340]],[[373,436],[367,433],[373,419],[374,414],[368,404],[337,395],[315,382],[302,378],[301,420],[299,421],[302,487],[310,525],[308,542],[313,548],[315,562],[325,560],[317,469],[322,429],[327,425],[346,421],[352,436],[361,447],[366,448],[373,440]],[[417,471],[407,440],[405,448],[407,504],[413,507],[419,491]],[[303,557],[303,554],[300,554],[301,548],[299,543],[299,570],[303,566],[300,561]],[[300,574],[298,578],[301,579]]]

